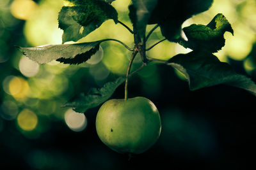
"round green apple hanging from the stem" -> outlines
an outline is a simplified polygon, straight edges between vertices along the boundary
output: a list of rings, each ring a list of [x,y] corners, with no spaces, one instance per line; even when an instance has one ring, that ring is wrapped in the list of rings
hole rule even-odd
[[[145,97],[111,99],[97,113],[96,130],[112,150],[139,154],[156,143],[161,119],[154,103]]]

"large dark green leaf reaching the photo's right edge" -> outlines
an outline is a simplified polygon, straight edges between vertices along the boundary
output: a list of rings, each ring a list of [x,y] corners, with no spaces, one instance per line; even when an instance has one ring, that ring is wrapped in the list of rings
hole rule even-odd
[[[193,51],[178,54],[168,60],[168,65],[186,76],[191,90],[224,83],[256,95],[256,85],[250,78],[237,74],[229,64],[220,62],[212,53]]]

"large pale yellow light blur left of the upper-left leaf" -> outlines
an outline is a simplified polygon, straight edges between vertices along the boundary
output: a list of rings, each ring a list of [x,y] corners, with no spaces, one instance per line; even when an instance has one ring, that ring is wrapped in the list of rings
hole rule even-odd
[[[40,1],[38,8],[24,25],[24,35],[32,46],[61,44],[63,31],[58,28],[61,0]]]

